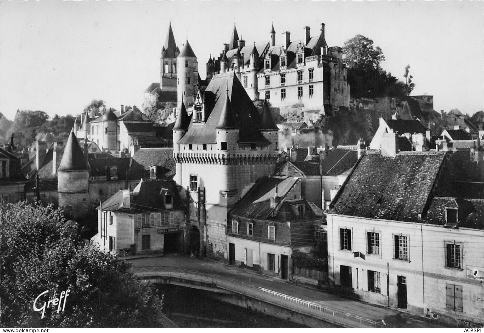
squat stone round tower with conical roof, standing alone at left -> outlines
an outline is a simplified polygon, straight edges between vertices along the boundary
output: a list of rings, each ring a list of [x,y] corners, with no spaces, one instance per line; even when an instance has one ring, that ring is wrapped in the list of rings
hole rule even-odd
[[[76,134],[71,131],[57,169],[59,207],[68,217],[78,219],[89,210],[89,165]]]

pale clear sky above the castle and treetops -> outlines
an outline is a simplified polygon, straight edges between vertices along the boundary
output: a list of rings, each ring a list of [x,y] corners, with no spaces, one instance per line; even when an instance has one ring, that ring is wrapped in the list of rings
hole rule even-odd
[[[0,0],[0,112],[76,115],[93,99],[139,108],[159,82],[160,52],[171,20],[178,45],[188,37],[202,79],[233,25],[247,44],[311,36],[325,23],[329,46],[362,34],[380,46],[382,68],[434,109],[484,110],[484,1],[308,0]]]

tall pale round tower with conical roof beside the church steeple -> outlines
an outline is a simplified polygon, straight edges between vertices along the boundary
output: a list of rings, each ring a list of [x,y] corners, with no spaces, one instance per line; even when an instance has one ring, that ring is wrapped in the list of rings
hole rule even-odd
[[[193,52],[188,39],[181,46],[178,55],[178,107],[181,108],[181,98],[183,97],[186,106],[194,102],[195,86],[198,80],[198,62],[197,56]]]

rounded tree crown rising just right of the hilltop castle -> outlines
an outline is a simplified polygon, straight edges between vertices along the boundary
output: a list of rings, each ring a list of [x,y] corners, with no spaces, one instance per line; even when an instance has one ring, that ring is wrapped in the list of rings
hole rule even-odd
[[[374,47],[373,41],[363,35],[348,39],[343,46],[345,62],[348,68],[354,70],[381,70],[380,62],[385,60],[379,46]]]

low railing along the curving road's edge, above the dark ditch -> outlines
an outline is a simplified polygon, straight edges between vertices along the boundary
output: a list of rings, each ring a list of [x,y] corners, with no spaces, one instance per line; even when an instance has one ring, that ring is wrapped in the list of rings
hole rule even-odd
[[[202,274],[196,271],[181,270],[167,267],[135,268],[135,275],[144,279],[178,278],[189,281],[204,282],[221,289],[233,291],[262,302],[282,306],[288,310],[321,319],[344,327],[384,327],[384,325],[369,319],[364,319],[344,311],[332,309],[276,291],[249,285],[214,274]]]

